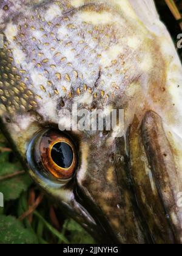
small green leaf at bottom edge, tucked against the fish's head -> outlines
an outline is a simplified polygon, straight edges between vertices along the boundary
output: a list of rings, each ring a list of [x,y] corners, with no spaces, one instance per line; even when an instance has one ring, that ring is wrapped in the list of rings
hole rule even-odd
[[[73,221],[73,219],[67,219],[64,222],[63,226],[64,230],[69,231],[69,241],[71,244],[95,244],[95,240],[86,230],[81,227],[77,222]]]

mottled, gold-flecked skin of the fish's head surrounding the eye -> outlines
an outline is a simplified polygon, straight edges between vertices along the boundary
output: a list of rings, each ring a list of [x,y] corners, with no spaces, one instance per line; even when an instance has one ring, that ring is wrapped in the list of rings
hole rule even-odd
[[[30,140],[45,127],[58,129],[59,110],[72,111],[74,103],[79,108],[101,108],[108,113],[112,108],[124,108],[123,138],[113,138],[112,132],[72,133],[80,157],[75,181],[60,185],[28,167],[30,175],[73,218],[97,233],[97,239],[102,239],[98,226],[103,221],[109,237],[105,241],[110,243],[181,243],[181,208],[171,210],[171,205],[165,204],[168,201],[161,196],[161,183],[162,191],[157,192],[157,166],[146,155],[150,148],[160,152],[167,146],[159,144],[156,148],[155,143],[153,147],[149,143],[145,151],[146,141],[157,140],[158,128],[155,138],[151,129],[149,134],[140,129],[146,113],[150,116],[153,111],[163,116],[166,131],[174,127],[181,139],[177,128],[181,112],[175,98],[181,94],[181,66],[178,59],[173,63],[175,51],[169,36],[159,37],[148,30],[129,2],[121,2],[19,0],[13,4],[1,0],[1,119],[8,138],[29,166],[26,152]],[[165,49],[169,44],[172,55],[169,51],[166,57],[161,41]],[[174,71],[172,78],[169,69]],[[169,84],[178,92],[172,94]],[[158,116],[149,119],[149,123],[157,119],[160,126]],[[143,123],[144,130],[147,124]],[[164,130],[161,133],[164,135]],[[179,179],[171,181],[169,177],[167,186],[174,193],[171,204],[176,205],[177,193],[182,191],[181,148],[176,147],[175,139],[169,140],[173,152],[167,161],[174,156],[174,172]],[[163,154],[158,155],[161,160]],[[163,162],[161,172],[165,176],[168,169]],[[153,176],[146,171],[150,167]],[[176,182],[178,189],[174,188]],[[77,198],[76,188],[87,206]]]

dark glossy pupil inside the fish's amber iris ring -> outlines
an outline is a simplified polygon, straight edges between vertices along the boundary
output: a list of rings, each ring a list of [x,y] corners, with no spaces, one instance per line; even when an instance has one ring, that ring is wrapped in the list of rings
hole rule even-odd
[[[52,160],[61,168],[69,168],[73,163],[73,150],[69,144],[56,143],[51,152]]]

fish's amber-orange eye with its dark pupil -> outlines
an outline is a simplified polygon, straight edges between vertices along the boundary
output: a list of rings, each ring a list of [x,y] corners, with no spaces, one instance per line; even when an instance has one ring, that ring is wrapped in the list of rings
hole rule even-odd
[[[39,170],[60,180],[71,179],[78,163],[72,138],[55,129],[36,135],[32,144],[32,156]]]

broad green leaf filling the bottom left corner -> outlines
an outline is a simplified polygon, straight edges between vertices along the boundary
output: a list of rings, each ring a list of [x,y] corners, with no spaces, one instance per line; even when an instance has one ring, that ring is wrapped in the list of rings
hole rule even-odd
[[[0,244],[38,244],[38,238],[18,219],[0,215]]]

